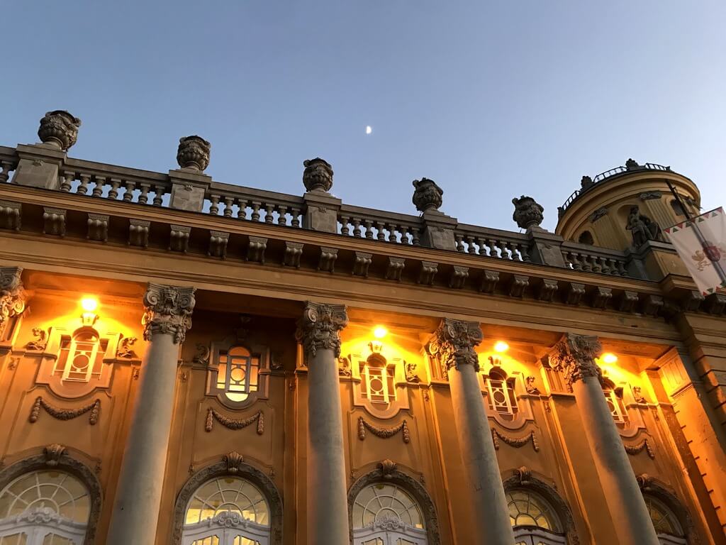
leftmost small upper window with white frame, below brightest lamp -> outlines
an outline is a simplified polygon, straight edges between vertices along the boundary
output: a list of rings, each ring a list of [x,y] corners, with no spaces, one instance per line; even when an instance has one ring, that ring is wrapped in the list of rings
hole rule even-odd
[[[99,379],[108,346],[93,328],[81,328],[72,335],[62,335],[60,352],[53,374],[63,382],[91,382]]]

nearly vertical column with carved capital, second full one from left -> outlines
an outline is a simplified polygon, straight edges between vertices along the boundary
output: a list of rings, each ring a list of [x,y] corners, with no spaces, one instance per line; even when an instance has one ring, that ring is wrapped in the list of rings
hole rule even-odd
[[[308,365],[307,542],[315,545],[350,541],[337,360],[347,324],[342,304],[308,302],[295,334]]]

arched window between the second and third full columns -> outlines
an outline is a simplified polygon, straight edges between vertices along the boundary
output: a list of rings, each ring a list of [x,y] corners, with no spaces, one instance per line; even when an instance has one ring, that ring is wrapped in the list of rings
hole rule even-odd
[[[353,502],[356,545],[426,545],[423,514],[414,498],[391,483],[362,489]]]

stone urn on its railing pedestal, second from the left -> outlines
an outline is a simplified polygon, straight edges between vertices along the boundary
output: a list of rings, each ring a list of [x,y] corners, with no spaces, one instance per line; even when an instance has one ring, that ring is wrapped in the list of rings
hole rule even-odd
[[[171,197],[169,208],[200,212],[212,178],[204,174],[209,165],[211,145],[196,134],[179,139],[176,161],[179,169],[169,171]]]

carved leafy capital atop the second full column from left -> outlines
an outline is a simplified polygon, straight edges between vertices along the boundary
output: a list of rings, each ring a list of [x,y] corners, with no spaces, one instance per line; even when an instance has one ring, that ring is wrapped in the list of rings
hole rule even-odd
[[[298,320],[295,339],[303,344],[306,355],[314,356],[318,349],[333,350],[340,356],[340,330],[348,325],[348,313],[344,304],[320,304],[307,302]]]

